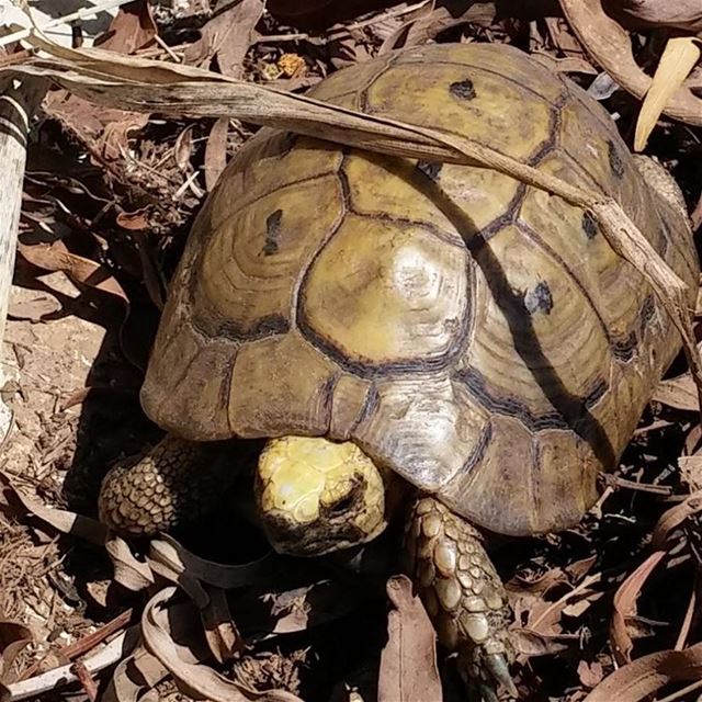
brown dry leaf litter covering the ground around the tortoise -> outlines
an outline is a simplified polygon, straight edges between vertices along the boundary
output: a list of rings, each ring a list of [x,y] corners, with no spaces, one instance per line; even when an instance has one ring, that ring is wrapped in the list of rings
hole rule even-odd
[[[589,89],[633,145],[641,104],[632,95],[646,93],[665,58],[660,37],[670,27],[693,41],[700,32],[699,12],[684,0],[665,9],[564,0],[565,16],[557,3],[540,1],[520,3],[519,12],[467,0],[263,4],[138,0],[121,8],[98,39],[122,58],[86,64],[84,55],[65,52],[35,59],[61,88],[47,94],[27,152],[18,294],[5,343],[19,373],[3,397],[24,435],[22,451],[8,450],[0,487],[3,700],[461,699],[452,661],[434,659],[426,614],[403,578],[385,582],[383,569],[350,574],[339,564],[292,564],[267,555],[254,534],[235,547],[197,534],[183,535],[192,547],[180,535],[131,547],[107,540],[91,519],[107,465],[158,435],[140,414],[137,392],[168,280],[199,204],[256,129],[250,122],[261,121],[252,113],[234,118],[234,98],[220,100],[217,111],[206,91],[178,92],[179,81],[212,80],[195,70],[206,69],[223,90],[242,79],[252,91],[278,89],[281,104],[298,109],[291,98],[304,88],[377,53],[429,41],[501,42]],[[29,46],[5,47],[0,68],[30,66]],[[140,59],[165,61],[156,88],[170,83],[171,97],[201,101],[191,102],[190,117],[158,101]],[[120,99],[101,104],[98,94],[109,94],[105,86],[117,73],[128,79]],[[682,93],[655,95],[666,107],[648,115],[648,127],[656,126],[646,147],[677,176],[697,226],[699,94],[693,68]],[[330,112],[320,112],[317,125],[328,124]],[[305,118],[298,114],[297,125]],[[365,129],[369,146],[380,129],[375,147],[386,150],[403,152],[409,143],[415,155],[460,159],[467,148],[476,157],[469,144],[408,134],[405,125],[354,125]],[[329,134],[349,138],[341,126]],[[658,283],[664,296],[675,292],[665,271]],[[34,347],[70,321],[80,329],[65,350],[82,351],[89,373],[64,377],[52,367],[49,377],[32,363],[43,359]],[[89,322],[107,333],[91,331],[81,349]],[[687,333],[699,338],[699,324]],[[54,395],[37,415],[26,401],[34,390],[24,388],[41,383]],[[660,702],[702,691],[698,411],[693,375],[680,360],[582,523],[498,548],[496,559],[511,574],[524,699]],[[180,692],[163,687],[169,679]]]

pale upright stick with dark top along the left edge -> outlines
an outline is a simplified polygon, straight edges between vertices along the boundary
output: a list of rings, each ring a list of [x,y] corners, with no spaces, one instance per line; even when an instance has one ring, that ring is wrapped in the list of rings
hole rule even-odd
[[[14,272],[30,120],[47,87],[43,78],[30,76],[0,82],[0,361]],[[0,387],[3,384],[0,364]],[[9,432],[11,421],[12,414],[0,399],[0,442]]]

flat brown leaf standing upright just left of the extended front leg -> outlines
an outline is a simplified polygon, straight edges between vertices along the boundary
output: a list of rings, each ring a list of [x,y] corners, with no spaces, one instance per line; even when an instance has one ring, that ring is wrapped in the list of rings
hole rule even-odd
[[[434,629],[409,578],[387,581],[395,608],[387,615],[387,644],[381,655],[378,702],[441,702]]]

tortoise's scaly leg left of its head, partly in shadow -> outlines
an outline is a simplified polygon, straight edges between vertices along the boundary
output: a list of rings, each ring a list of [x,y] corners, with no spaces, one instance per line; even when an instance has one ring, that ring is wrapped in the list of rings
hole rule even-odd
[[[117,463],[102,480],[100,521],[117,533],[152,535],[197,520],[236,476],[219,452],[220,444],[167,435],[145,455]]]

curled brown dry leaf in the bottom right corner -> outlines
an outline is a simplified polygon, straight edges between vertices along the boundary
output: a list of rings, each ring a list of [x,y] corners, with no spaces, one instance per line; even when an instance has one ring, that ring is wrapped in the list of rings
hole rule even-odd
[[[643,702],[671,682],[702,679],[702,644],[684,650],[661,650],[615,670],[584,702]]]

